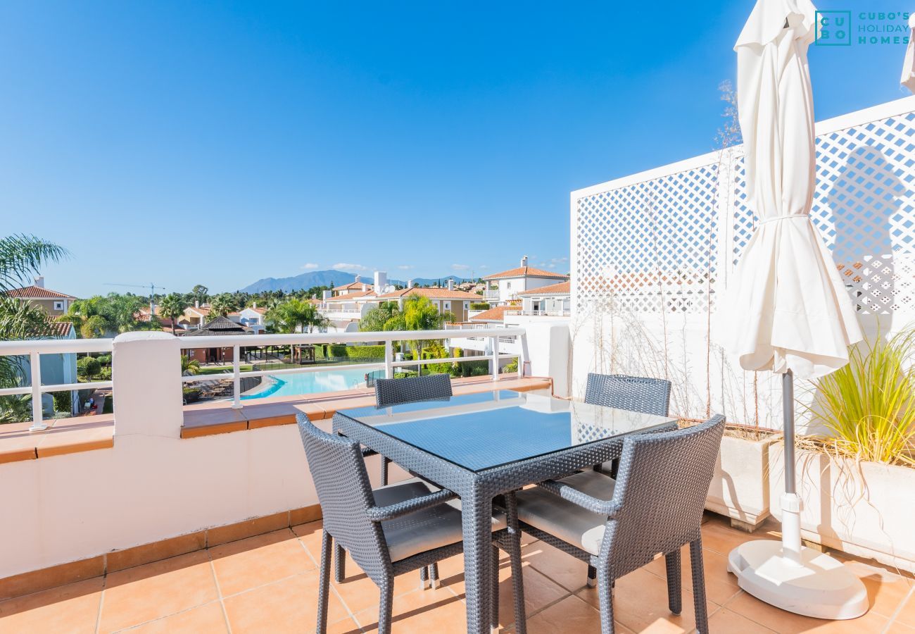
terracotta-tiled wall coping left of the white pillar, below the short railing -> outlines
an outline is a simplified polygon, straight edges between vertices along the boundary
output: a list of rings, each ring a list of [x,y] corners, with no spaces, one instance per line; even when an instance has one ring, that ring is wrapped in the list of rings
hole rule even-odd
[[[29,432],[30,422],[0,425],[0,464],[114,446],[112,414],[45,422],[48,429],[44,432]]]

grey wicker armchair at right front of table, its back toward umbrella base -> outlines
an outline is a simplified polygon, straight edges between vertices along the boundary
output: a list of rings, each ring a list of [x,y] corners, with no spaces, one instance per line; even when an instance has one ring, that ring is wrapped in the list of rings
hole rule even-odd
[[[597,568],[603,634],[614,631],[614,581],[659,553],[668,606],[680,613],[680,549],[687,543],[696,629],[708,632],[701,525],[724,429],[725,417],[718,415],[688,429],[630,436],[618,479],[585,472],[517,494],[522,531]]]

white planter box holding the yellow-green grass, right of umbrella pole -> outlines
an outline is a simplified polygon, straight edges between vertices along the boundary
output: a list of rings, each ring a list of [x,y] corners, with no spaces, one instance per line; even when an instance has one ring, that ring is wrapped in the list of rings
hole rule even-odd
[[[915,469],[815,452],[796,457],[804,539],[915,572]],[[784,447],[774,444],[772,491],[783,490],[784,473]]]

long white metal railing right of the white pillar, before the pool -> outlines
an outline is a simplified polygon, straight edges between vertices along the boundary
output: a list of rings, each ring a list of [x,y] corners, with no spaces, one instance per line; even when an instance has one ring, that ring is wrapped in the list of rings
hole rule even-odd
[[[464,334],[463,331],[467,331]],[[472,333],[472,335],[470,335]],[[481,339],[488,337],[490,339],[489,355],[479,356],[455,356],[444,359],[419,359],[415,361],[395,361],[393,358],[393,342],[395,341],[416,341],[416,340],[434,340],[434,339]],[[499,344],[521,342],[519,351],[512,354],[500,354]],[[386,378],[393,378],[394,368],[426,366],[436,363],[464,363],[467,361],[488,360],[490,362],[490,374],[493,381],[498,381],[499,362],[503,359],[518,359],[518,376],[523,376],[523,368],[526,359],[526,332],[523,328],[468,328],[468,329],[447,329],[447,330],[423,330],[423,331],[387,331],[381,333],[302,333],[302,334],[253,334],[243,335],[240,337],[227,337],[213,335],[203,337],[192,337],[180,340],[182,350],[194,348],[229,348],[232,350],[232,369],[231,372],[210,375],[193,375],[181,377],[185,383],[195,383],[200,381],[224,380],[232,381],[232,407],[241,409],[242,407],[242,377],[266,377],[286,374],[304,374],[307,372],[321,372],[332,369],[333,366],[313,366],[289,367],[276,370],[250,370],[242,372],[241,370],[241,348],[250,348],[263,345],[296,345],[296,344],[366,344],[382,342],[384,344],[384,356],[382,360],[370,363],[349,364],[348,370],[378,370],[384,369]]]

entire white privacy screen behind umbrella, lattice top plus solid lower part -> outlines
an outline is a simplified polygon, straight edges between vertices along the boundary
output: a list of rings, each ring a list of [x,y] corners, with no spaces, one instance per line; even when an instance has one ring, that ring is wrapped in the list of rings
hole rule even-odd
[[[915,318],[915,97],[817,133],[813,223],[866,331],[902,327]],[[587,372],[668,377],[676,413],[779,426],[778,381],[711,336],[757,223],[745,190],[737,147],[573,192],[574,393]]]

